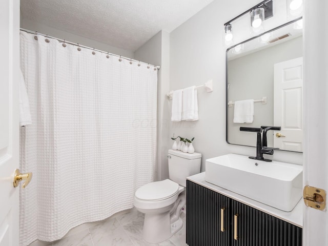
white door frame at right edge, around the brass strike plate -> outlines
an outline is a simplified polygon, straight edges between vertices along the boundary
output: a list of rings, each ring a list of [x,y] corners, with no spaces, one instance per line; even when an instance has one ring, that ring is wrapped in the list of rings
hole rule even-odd
[[[303,186],[328,192],[328,1],[304,1]],[[328,245],[328,212],[304,206],[303,246]]]

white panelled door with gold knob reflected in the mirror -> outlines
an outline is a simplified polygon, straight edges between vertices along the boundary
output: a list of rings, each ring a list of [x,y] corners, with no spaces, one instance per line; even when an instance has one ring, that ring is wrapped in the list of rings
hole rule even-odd
[[[302,152],[303,58],[274,65],[274,148]]]

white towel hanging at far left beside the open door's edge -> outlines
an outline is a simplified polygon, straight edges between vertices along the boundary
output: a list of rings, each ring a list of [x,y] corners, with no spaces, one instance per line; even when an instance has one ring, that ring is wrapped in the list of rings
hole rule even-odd
[[[25,127],[32,124],[29,98],[27,96],[22,71],[19,70],[19,125]]]

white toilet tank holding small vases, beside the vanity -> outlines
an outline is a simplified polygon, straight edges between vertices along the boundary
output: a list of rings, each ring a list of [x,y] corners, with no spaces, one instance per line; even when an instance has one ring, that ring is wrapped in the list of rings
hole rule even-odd
[[[186,187],[186,178],[200,172],[200,153],[184,153],[169,150],[169,177],[172,181]]]

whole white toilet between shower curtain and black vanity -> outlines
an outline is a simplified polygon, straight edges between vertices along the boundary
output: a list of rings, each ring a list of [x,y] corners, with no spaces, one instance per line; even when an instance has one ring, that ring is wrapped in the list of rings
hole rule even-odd
[[[169,150],[169,178],[140,187],[134,196],[134,207],[145,213],[142,235],[158,243],[178,232],[183,222],[180,213],[186,204],[186,178],[200,172],[200,153]]]

